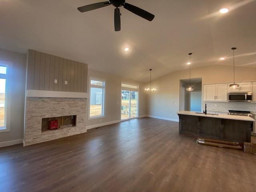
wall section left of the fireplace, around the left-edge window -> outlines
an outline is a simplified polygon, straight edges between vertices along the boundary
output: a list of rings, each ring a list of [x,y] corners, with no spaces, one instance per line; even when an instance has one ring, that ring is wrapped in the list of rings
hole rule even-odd
[[[12,63],[10,131],[0,132],[0,142],[23,138],[26,54],[0,49],[0,61]]]

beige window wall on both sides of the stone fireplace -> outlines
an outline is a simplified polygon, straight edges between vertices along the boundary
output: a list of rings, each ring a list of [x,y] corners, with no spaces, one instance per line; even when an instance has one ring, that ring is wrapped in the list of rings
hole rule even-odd
[[[0,142],[23,139],[24,100],[26,86],[26,54],[0,49],[0,60],[12,63],[11,124],[10,132],[0,132]],[[105,118],[88,120],[87,126],[120,120],[120,82],[140,85],[139,116],[146,114],[145,84],[120,76],[89,70],[89,76],[106,79]],[[88,118],[88,117],[87,117]]]

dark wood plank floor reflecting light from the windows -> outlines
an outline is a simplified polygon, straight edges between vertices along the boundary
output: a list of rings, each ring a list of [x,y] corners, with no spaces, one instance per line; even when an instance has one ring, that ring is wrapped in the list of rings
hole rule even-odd
[[[0,148],[1,192],[255,192],[256,156],[196,144],[178,123],[134,119]]]

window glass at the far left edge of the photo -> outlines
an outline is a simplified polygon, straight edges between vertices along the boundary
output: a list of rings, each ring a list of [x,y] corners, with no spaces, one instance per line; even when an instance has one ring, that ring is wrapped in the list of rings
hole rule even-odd
[[[6,74],[7,66],[0,63],[0,130],[6,129]]]

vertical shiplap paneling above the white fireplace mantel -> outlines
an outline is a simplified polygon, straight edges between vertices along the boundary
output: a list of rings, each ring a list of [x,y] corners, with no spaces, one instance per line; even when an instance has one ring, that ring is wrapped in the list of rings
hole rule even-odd
[[[87,92],[87,77],[87,64],[28,50],[27,90]]]

